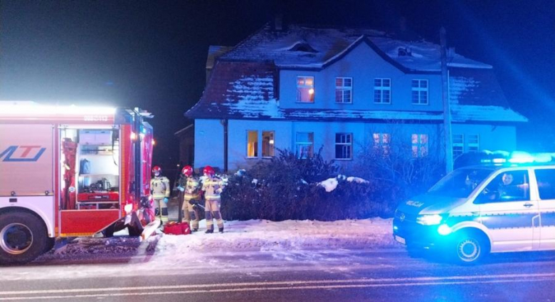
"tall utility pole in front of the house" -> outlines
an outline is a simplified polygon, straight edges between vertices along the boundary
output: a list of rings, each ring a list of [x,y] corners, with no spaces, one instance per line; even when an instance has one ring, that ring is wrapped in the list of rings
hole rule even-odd
[[[449,73],[447,70],[447,41],[445,28],[440,29],[441,85],[443,98],[443,133],[445,134],[445,172],[453,171],[453,136],[451,135],[451,107],[449,102]]]

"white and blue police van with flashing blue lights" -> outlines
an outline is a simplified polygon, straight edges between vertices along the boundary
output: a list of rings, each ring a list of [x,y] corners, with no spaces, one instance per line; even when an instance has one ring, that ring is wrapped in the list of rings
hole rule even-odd
[[[554,157],[521,154],[454,170],[398,206],[394,239],[462,264],[489,253],[555,250]]]

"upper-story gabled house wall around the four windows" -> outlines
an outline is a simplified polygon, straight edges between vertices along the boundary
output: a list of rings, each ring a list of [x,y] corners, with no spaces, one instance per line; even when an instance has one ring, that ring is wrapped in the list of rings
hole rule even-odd
[[[314,103],[297,103],[297,76],[314,76]],[[335,102],[335,78],[353,80],[352,103]],[[374,103],[374,78],[391,79],[391,104]],[[428,80],[428,105],[411,103],[413,79]],[[381,58],[366,43],[322,71],[280,71],[281,108],[318,108],[347,110],[442,110],[441,75],[405,74]]]

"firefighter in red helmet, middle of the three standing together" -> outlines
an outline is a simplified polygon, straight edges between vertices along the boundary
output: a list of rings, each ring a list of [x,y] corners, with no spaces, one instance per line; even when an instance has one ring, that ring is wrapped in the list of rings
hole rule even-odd
[[[193,176],[193,167],[185,166],[181,170],[181,179],[178,189],[183,194],[183,206],[181,207],[181,217],[189,223],[192,231],[199,231],[199,209],[196,208],[195,202],[200,200],[201,182]]]

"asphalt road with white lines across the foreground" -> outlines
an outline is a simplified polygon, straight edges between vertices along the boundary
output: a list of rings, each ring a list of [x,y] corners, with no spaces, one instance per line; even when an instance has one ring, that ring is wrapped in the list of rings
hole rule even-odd
[[[0,267],[0,301],[553,301],[555,253],[480,266],[402,250],[191,254],[49,260]]]

